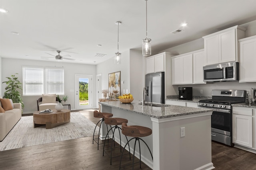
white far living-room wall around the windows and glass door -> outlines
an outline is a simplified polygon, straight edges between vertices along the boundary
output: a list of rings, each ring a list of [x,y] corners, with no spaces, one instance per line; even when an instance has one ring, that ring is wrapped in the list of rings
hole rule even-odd
[[[75,109],[75,74],[92,75],[92,108],[96,108],[96,66],[89,64],[72,64],[55,61],[34,61],[2,58],[2,81],[5,77],[18,73],[18,79],[22,82],[22,66],[42,66],[42,67],[64,67],[64,94],[68,96],[68,103],[71,110]],[[2,92],[6,84],[2,85]],[[24,102],[23,113],[37,111],[36,100],[41,96],[22,96]],[[98,104],[98,103],[97,103]]]

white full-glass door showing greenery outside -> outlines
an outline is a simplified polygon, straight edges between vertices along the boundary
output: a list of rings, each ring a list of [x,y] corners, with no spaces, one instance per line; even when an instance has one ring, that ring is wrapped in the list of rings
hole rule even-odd
[[[76,110],[92,108],[92,76],[75,75],[76,86]]]

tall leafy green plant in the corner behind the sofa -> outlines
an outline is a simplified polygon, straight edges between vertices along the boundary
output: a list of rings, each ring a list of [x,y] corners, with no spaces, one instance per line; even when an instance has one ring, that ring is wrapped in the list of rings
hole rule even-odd
[[[24,108],[22,97],[20,95],[20,92],[18,91],[18,89],[22,90],[22,83],[18,80],[16,74],[18,73],[11,75],[11,77],[6,77],[8,78],[8,81],[2,82],[6,83],[7,85],[5,88],[6,91],[4,92],[3,98],[12,99],[13,103],[21,103],[22,108]]]

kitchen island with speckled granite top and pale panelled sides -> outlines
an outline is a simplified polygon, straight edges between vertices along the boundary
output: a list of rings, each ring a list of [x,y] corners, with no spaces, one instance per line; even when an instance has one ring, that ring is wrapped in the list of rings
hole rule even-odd
[[[153,153],[141,145],[142,161],[154,170],[210,170],[214,169],[211,151],[212,109],[165,105],[142,106],[134,100],[130,104],[99,102],[102,112],[128,119],[127,125],[141,125],[152,129],[152,135],[143,137]],[[181,137],[181,127],[185,128]],[[106,135],[106,126],[101,134]],[[115,137],[118,141],[119,137]],[[129,139],[129,138],[128,138]],[[122,146],[126,143],[122,135]],[[130,144],[133,152],[133,143]],[[126,149],[128,149],[126,147]],[[138,157],[136,148],[135,156]]]

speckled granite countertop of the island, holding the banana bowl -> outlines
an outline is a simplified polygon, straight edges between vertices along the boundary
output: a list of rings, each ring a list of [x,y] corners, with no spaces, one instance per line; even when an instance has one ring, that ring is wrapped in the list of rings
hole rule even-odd
[[[139,100],[133,100],[132,103],[130,104],[123,104],[120,101],[99,102],[99,103],[105,106],[115,107],[118,109],[127,110],[130,112],[146,115],[149,117],[155,117],[158,119],[212,111],[212,109],[208,109],[208,108],[194,108],[194,107],[174,106],[174,105],[166,105],[166,104],[162,104],[162,105],[165,105],[167,107],[142,106],[139,104],[141,103]]]

